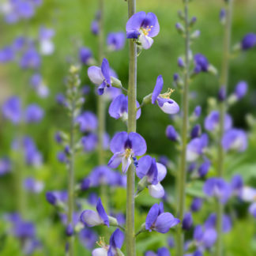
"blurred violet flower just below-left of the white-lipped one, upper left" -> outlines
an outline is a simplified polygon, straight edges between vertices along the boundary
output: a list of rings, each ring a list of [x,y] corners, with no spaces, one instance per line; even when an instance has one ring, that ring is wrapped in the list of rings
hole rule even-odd
[[[41,58],[35,48],[29,48],[21,56],[20,66],[23,69],[38,69],[41,65]]]

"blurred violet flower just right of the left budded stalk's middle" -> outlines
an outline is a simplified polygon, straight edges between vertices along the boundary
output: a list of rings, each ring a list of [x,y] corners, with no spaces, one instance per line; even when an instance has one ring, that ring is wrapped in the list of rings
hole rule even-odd
[[[82,133],[95,131],[98,127],[98,119],[91,111],[85,111],[77,116],[76,122]]]

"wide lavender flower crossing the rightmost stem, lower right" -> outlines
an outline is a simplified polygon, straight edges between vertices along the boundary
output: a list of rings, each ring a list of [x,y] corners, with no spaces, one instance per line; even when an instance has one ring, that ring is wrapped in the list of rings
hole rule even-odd
[[[231,186],[221,178],[210,178],[205,181],[204,193],[209,197],[216,197],[225,204],[232,194]]]

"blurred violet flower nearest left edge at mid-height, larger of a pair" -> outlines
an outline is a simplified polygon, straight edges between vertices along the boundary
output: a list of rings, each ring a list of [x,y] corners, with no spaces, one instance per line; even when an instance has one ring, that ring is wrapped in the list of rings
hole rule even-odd
[[[2,115],[14,124],[21,122],[21,100],[17,96],[11,96],[2,105]]]

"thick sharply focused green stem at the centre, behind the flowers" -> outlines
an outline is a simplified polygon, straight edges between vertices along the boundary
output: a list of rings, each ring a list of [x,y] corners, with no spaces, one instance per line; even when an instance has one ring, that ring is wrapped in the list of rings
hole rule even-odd
[[[128,0],[128,17],[134,15],[136,0]],[[137,97],[137,46],[129,40],[129,85],[128,85],[128,133],[136,132]],[[127,171],[126,188],[126,252],[127,256],[136,255],[134,235],[134,164]]]

